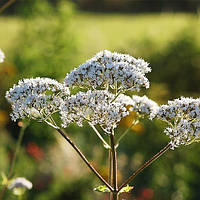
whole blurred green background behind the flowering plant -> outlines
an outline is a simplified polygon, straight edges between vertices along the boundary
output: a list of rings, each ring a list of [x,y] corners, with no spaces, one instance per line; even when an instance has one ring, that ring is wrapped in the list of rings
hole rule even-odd
[[[1,6],[7,0],[1,1]],[[158,3],[159,2],[159,3]],[[199,1],[19,0],[0,16],[0,172],[7,173],[19,134],[10,121],[5,92],[25,77],[63,81],[67,72],[103,49],[142,57],[150,63],[150,89],[159,104],[200,94]],[[171,2],[171,3],[170,3]],[[129,121],[123,121],[123,131]],[[119,181],[168,141],[160,121],[141,122],[118,148]],[[71,138],[107,177],[107,152],[92,130],[71,125]],[[145,169],[126,200],[199,200],[200,146],[167,152]],[[15,174],[32,181],[28,200],[106,200],[92,190],[101,183],[51,128],[31,122],[23,138]],[[7,200],[16,199],[9,191]]]

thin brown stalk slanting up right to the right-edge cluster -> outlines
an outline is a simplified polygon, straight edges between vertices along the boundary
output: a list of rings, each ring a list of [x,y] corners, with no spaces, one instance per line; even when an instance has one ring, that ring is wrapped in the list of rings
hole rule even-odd
[[[132,181],[140,172],[142,172],[146,167],[151,165],[156,159],[163,155],[167,150],[171,148],[171,144],[168,143],[163,149],[161,149],[157,154],[155,154],[151,159],[145,162],[140,168],[138,168],[122,185],[119,187],[119,191],[125,187],[130,181]]]

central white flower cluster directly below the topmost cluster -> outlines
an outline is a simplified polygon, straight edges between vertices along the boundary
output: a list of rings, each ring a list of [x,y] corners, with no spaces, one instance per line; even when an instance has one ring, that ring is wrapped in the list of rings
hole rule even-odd
[[[121,118],[129,114],[124,98],[115,99],[115,95],[107,90],[88,90],[67,97],[60,107],[63,126],[84,121],[92,125],[100,125],[108,134],[117,127]]]

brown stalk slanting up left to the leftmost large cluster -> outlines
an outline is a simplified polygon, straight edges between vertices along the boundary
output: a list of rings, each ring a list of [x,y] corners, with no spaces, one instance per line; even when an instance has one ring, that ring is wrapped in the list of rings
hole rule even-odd
[[[78,153],[81,159],[85,162],[85,164],[92,170],[92,172],[110,189],[110,191],[114,191],[112,186],[96,171],[96,169],[89,163],[87,158],[83,155],[80,149],[72,142],[72,140],[64,133],[61,129],[56,129],[60,135],[72,146],[72,148]]]

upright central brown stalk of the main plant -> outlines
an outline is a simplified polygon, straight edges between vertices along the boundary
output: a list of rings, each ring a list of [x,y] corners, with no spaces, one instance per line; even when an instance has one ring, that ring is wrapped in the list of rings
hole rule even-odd
[[[118,184],[117,184],[117,152],[115,148],[115,141],[114,141],[114,133],[112,132],[110,134],[110,144],[111,144],[111,150],[112,150],[112,167],[113,167],[113,200],[118,199]]]

